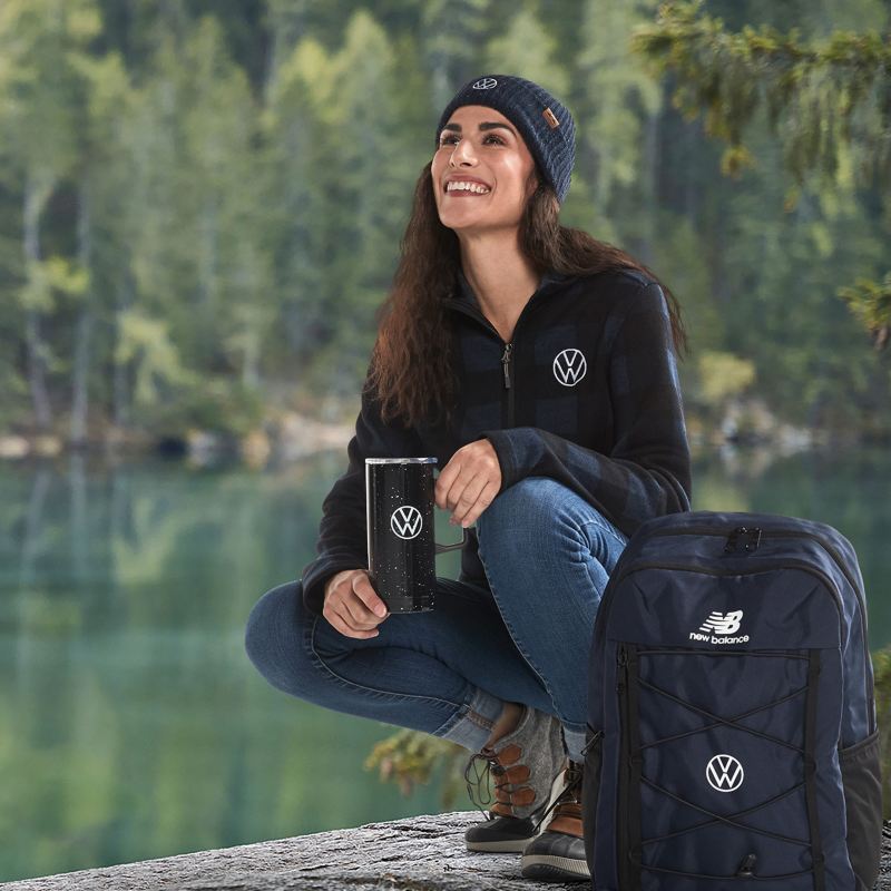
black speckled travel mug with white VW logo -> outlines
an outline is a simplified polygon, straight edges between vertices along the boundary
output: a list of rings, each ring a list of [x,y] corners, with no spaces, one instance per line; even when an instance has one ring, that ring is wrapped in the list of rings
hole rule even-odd
[[[369,577],[391,613],[433,608],[437,555],[457,550],[433,540],[435,458],[366,458]]]

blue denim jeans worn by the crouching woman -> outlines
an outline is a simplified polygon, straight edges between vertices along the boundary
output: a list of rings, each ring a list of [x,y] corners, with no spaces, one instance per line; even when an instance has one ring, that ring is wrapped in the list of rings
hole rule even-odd
[[[433,611],[391,615],[358,640],[311,615],[290,581],[251,611],[251,660],[292,696],[473,752],[503,703],[522,703],[556,715],[580,761],[594,617],[627,538],[548,477],[501,492],[477,535],[491,590],[438,578]]]

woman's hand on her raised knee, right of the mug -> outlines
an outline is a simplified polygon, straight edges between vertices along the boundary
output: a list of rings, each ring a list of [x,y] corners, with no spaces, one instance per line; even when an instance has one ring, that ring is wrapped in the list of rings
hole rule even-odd
[[[462,446],[437,478],[435,501],[464,529],[477,521],[501,489],[501,466],[488,439]]]

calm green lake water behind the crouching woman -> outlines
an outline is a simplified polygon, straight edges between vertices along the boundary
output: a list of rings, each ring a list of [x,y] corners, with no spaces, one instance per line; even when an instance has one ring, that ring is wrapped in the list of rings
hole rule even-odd
[[[244,653],[251,607],[312,558],[344,467],[0,464],[0,881],[442,809],[439,777],[407,799],[364,768],[393,728],[287,697]],[[881,450],[714,453],[694,508],[836,527],[874,652],[891,642],[889,478]]]

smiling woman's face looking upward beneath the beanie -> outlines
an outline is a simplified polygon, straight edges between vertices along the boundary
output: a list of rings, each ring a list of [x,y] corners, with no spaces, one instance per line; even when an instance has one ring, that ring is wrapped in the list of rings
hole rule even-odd
[[[439,135],[431,174],[439,218],[457,233],[516,228],[535,192],[535,160],[517,128],[481,105],[457,108]]]

